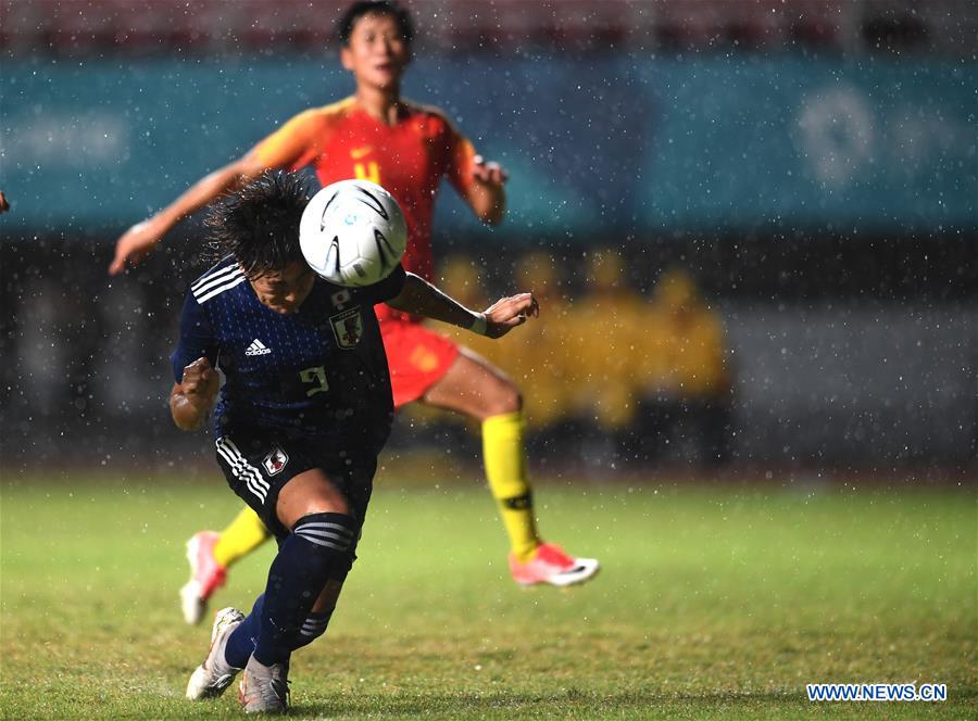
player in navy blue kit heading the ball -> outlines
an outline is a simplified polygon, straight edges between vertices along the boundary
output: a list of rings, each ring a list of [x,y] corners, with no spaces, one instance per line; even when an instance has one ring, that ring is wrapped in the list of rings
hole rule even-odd
[[[197,429],[214,408],[217,463],[279,543],[265,593],[247,617],[217,612],[187,686],[218,696],[243,671],[246,712],[287,710],[290,656],[326,631],[355,558],[393,418],[374,305],[492,338],[538,313],[529,293],[474,313],[400,266],[373,286],[330,284],[299,248],[308,200],[299,176],[266,172],[212,206],[223,260],[191,284],[172,356],[174,422]]]

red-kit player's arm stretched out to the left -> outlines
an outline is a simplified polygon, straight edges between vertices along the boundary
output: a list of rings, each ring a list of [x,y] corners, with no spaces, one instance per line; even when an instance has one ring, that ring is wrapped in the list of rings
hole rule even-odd
[[[234,191],[269,168],[297,166],[313,140],[314,117],[297,115],[246,155],[204,176],[150,218],[126,230],[115,243],[109,274],[116,275],[145,258],[173,227],[223,193]]]

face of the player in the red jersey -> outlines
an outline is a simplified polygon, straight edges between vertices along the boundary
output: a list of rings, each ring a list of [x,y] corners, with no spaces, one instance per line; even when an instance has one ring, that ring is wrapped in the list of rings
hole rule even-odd
[[[353,73],[358,85],[397,89],[411,60],[411,51],[393,17],[367,13],[353,25],[340,60],[343,67]]]

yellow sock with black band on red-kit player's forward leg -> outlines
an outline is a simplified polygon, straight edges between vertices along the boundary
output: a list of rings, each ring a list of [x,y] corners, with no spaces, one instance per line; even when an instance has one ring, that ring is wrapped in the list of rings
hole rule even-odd
[[[482,421],[482,456],[492,497],[517,559],[525,561],[540,545],[534,501],[523,456],[523,414],[507,413]]]

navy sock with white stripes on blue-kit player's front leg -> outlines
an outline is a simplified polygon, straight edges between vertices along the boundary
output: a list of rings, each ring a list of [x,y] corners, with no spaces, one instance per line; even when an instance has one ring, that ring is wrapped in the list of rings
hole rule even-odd
[[[255,660],[271,666],[289,659],[330,571],[349,565],[355,540],[355,522],[343,514],[311,514],[296,522],[268,569]]]

